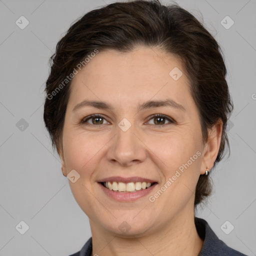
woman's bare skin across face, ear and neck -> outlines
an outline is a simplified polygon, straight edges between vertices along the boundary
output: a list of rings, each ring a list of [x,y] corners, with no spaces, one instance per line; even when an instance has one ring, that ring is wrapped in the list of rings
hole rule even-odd
[[[174,67],[183,72],[178,80],[169,75]],[[80,175],[69,185],[89,218],[92,255],[198,255],[203,241],[194,224],[194,192],[199,175],[206,167],[211,169],[217,157],[222,122],[209,130],[203,143],[198,109],[188,86],[176,57],[145,46],[128,53],[99,51],[74,76],[58,153],[63,174],[75,169]],[[166,98],[185,111],[169,106],[137,110],[142,102]],[[113,109],[84,106],[72,111],[84,99],[106,101]],[[91,114],[104,118],[80,123]],[[174,122],[157,122],[157,117],[150,117],[153,114]],[[118,126],[123,118],[131,124],[127,131]],[[150,202],[149,195],[196,151],[200,156]],[[97,181],[109,176],[147,177],[158,184],[148,196],[119,202],[99,189]],[[126,233],[118,228],[123,221],[130,226]]]

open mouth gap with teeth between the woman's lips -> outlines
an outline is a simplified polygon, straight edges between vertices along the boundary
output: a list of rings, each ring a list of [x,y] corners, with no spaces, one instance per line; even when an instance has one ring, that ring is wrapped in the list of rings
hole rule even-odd
[[[114,192],[137,192],[141,190],[146,190],[149,187],[153,186],[157,182],[146,182],[146,181],[137,181],[137,182],[118,182],[118,181],[103,181],[99,182],[102,186],[108,190]]]

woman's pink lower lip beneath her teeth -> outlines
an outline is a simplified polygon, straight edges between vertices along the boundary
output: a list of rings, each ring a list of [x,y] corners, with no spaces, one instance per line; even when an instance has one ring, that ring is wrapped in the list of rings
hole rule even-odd
[[[118,192],[104,187],[101,183],[98,184],[106,195],[117,201],[134,201],[149,194],[157,185],[157,183],[155,183],[146,189],[141,189],[136,192]]]

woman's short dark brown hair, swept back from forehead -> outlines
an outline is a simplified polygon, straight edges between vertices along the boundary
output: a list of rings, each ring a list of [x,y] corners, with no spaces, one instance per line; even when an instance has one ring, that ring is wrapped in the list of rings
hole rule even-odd
[[[199,110],[204,142],[207,141],[207,128],[216,124],[218,119],[222,120],[215,167],[223,157],[226,144],[229,149],[226,129],[227,119],[233,109],[221,49],[191,13],[177,4],[164,6],[158,0],[115,2],[91,10],[76,20],[58,41],[56,51],[50,57],[51,69],[46,81],[43,114],[52,146],[58,152],[62,146],[64,116],[70,93],[70,81],[63,85],[66,76],[95,49],[128,52],[136,45],[157,46],[181,59],[184,72],[190,80],[191,95]],[[59,89],[61,83],[63,86]],[[209,175],[200,175],[194,207],[211,190]]]

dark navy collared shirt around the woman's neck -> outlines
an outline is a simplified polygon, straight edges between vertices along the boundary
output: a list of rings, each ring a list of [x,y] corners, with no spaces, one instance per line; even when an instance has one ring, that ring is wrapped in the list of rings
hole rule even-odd
[[[203,245],[198,256],[247,256],[228,247],[222,240],[220,240],[210,228],[206,220],[195,217],[194,223],[198,235],[203,240]],[[90,237],[82,246],[80,251],[77,251],[70,256],[91,256],[91,252],[92,238]]]

